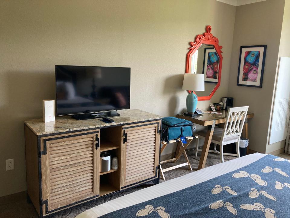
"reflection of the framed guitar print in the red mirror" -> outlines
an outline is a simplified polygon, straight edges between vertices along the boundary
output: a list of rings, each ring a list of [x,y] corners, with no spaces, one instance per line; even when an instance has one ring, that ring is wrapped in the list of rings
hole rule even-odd
[[[202,73],[205,75],[205,82],[218,83],[218,68],[220,58],[214,48],[205,48],[203,57]]]

